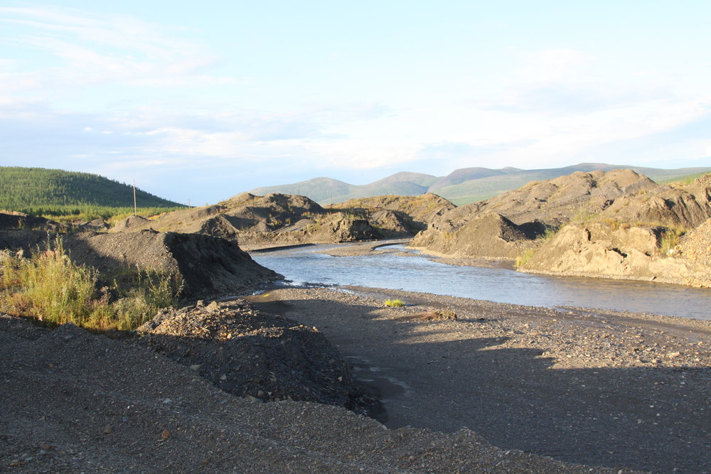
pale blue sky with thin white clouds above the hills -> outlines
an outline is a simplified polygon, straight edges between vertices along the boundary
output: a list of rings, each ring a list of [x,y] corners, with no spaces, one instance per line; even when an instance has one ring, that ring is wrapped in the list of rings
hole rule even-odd
[[[327,176],[711,166],[711,2],[0,0],[0,166],[193,205]]]

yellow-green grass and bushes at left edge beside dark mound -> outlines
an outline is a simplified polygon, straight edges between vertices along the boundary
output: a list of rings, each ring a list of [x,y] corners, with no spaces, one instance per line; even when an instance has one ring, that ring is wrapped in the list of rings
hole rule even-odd
[[[49,325],[133,330],[175,304],[181,289],[173,276],[141,269],[107,284],[97,270],[73,264],[60,238],[28,258],[0,252],[0,311]]]

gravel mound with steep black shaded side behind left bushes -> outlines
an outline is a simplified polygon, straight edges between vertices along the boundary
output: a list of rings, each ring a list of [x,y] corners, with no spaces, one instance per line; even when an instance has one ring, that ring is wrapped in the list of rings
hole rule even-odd
[[[40,231],[0,232],[0,246],[33,252],[47,248],[55,237]],[[208,235],[175,232],[77,233],[62,235],[76,264],[92,266],[107,278],[127,267],[152,269],[179,277],[183,296],[234,295],[278,279],[257,264],[235,242]]]

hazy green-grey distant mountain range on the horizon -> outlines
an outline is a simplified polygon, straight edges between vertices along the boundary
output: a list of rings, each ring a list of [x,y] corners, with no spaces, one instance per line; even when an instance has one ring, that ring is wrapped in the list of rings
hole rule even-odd
[[[315,200],[319,204],[341,203],[353,198],[370,198],[379,195],[415,196],[434,193],[450,200],[456,205],[476,203],[493,198],[506,191],[520,188],[530,181],[566,176],[575,171],[610,171],[627,168],[641,173],[653,181],[670,181],[685,176],[705,173],[710,168],[677,168],[665,170],[644,168],[643,166],[609,165],[606,163],[580,163],[565,168],[545,168],[522,170],[519,168],[461,168],[447,176],[432,176],[422,173],[395,173],[370,184],[353,185],[331,178],[313,178],[293,184],[255,188],[250,193],[266,195],[269,193],[299,194]]]

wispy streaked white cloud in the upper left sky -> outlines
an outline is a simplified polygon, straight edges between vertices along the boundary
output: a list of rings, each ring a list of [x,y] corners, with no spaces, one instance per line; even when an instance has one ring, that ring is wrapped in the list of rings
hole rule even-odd
[[[94,14],[52,6],[0,7],[0,43],[48,53],[52,66],[15,60],[0,77],[14,90],[56,90],[107,82],[152,87],[230,84],[203,72],[220,62],[186,28],[170,28],[120,14]],[[8,61],[8,60],[4,60]]]

